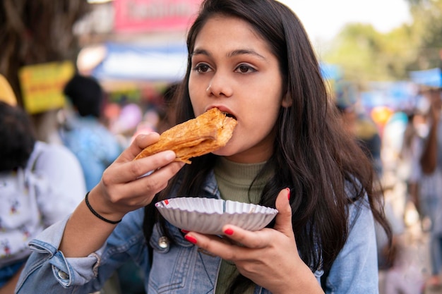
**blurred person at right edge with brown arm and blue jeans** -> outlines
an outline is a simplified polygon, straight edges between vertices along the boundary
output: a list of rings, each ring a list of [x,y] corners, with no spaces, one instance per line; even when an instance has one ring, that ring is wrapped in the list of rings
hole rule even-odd
[[[424,87],[422,94],[430,103],[429,133],[419,152],[422,176],[419,180],[419,209],[431,221],[429,251],[431,276],[427,284],[431,288],[442,288],[442,229],[436,226],[436,216],[442,211],[442,120],[441,87]]]

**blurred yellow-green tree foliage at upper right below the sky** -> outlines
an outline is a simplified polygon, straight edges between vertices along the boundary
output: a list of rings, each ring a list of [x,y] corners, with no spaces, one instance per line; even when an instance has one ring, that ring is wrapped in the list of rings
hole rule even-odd
[[[412,23],[381,33],[371,25],[350,23],[332,40],[321,59],[342,67],[344,78],[405,80],[409,71],[439,66],[442,0],[408,0]]]

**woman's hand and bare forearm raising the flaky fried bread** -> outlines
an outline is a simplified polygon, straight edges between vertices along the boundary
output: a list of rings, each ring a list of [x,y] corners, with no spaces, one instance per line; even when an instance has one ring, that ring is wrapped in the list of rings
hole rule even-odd
[[[126,213],[152,202],[155,194],[164,189],[169,179],[184,166],[174,161],[175,153],[172,151],[133,160],[159,137],[157,133],[138,135],[104,171],[102,180],[88,196],[90,207],[97,214],[110,221],[119,221]],[[146,173],[149,174],[145,176]],[[104,244],[114,228],[115,224],[92,214],[83,201],[66,223],[59,250],[65,257],[88,256]]]

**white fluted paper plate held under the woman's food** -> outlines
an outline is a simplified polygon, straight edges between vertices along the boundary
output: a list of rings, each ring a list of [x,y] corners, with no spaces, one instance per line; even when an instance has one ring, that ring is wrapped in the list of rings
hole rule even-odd
[[[270,207],[213,198],[171,198],[155,203],[155,207],[177,228],[214,235],[221,235],[227,223],[249,231],[260,230],[277,214]]]

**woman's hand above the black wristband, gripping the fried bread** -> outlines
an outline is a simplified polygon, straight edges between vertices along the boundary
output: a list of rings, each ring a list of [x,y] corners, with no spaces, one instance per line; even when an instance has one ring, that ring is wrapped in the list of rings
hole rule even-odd
[[[98,214],[118,220],[128,212],[145,207],[184,166],[174,161],[175,153],[170,150],[133,160],[159,137],[157,133],[138,135],[104,171],[102,180],[89,195],[90,204]]]

